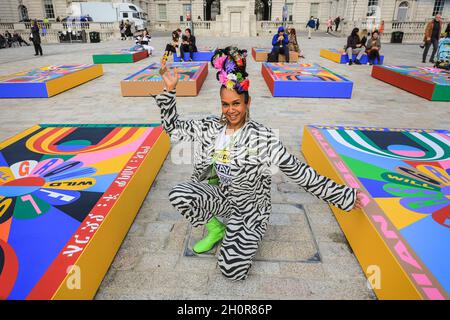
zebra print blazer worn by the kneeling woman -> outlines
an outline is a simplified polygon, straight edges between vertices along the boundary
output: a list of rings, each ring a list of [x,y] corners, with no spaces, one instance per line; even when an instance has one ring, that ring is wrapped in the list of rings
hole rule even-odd
[[[192,180],[200,182],[207,179],[215,140],[225,124],[216,116],[201,120],[180,120],[175,90],[164,90],[153,97],[161,109],[162,126],[171,139],[194,143]],[[273,165],[309,193],[340,209],[350,211],[355,204],[357,189],[337,184],[319,175],[291,155],[271,129],[256,121],[249,120],[245,123],[230,153],[232,182],[227,191],[233,207],[241,214],[254,209],[261,214],[270,214]]]

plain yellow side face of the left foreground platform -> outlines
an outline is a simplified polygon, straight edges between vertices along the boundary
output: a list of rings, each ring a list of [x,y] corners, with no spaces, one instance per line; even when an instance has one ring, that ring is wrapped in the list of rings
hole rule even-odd
[[[92,299],[108,271],[117,250],[131,226],[151,184],[170,148],[169,136],[162,132],[146,159],[136,171],[101,227],[75,263],[81,272],[81,288],[69,289],[68,275],[52,299]]]

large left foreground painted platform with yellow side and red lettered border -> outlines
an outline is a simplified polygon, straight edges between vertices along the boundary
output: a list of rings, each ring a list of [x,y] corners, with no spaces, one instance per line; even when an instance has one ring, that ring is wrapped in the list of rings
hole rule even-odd
[[[0,143],[0,299],[92,298],[169,144],[151,124],[39,125]]]

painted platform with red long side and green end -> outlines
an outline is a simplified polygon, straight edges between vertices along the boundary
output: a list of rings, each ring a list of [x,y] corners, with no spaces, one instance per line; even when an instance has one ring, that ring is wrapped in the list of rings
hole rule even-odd
[[[450,101],[450,71],[432,67],[374,66],[372,77],[432,101]]]

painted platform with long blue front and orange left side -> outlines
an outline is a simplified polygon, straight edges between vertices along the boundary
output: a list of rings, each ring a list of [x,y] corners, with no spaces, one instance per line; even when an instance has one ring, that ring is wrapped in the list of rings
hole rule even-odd
[[[273,96],[350,98],[353,82],[317,64],[263,63]]]

